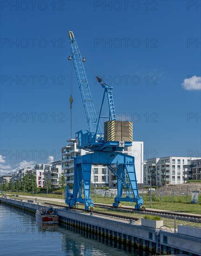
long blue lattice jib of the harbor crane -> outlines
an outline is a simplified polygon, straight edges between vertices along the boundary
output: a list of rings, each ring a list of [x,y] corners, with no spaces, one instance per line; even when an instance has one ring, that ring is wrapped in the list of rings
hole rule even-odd
[[[75,73],[77,76],[80,93],[85,109],[85,114],[87,116],[87,124],[89,128],[89,132],[96,132],[98,126],[98,118],[94,108],[94,102],[91,97],[91,93],[89,90],[87,76],[85,74],[80,50],[74,38],[74,34],[72,31],[69,31],[69,38],[70,38],[70,47],[71,47],[71,55],[74,62]],[[101,129],[98,127],[97,133],[101,134]]]

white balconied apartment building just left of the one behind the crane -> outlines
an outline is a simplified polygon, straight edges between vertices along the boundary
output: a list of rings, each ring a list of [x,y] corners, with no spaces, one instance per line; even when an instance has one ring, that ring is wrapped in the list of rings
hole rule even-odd
[[[49,181],[51,182],[51,187],[53,189],[57,189],[60,181],[60,176],[62,174],[61,160],[51,162],[50,164],[51,166],[44,168],[44,176],[45,176],[44,186],[48,177]]]

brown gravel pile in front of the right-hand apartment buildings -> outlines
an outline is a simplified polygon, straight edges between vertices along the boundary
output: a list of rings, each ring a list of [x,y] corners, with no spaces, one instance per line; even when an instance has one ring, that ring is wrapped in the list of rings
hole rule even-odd
[[[166,184],[160,189],[156,190],[156,195],[183,195],[184,194],[190,194],[193,190],[200,191],[201,193],[201,183],[198,182],[189,182],[184,184]]]

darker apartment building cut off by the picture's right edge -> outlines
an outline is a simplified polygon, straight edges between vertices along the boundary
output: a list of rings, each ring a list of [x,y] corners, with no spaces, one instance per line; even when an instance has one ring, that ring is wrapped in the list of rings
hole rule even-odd
[[[201,180],[201,159],[191,160],[190,165],[184,165],[184,180]]]

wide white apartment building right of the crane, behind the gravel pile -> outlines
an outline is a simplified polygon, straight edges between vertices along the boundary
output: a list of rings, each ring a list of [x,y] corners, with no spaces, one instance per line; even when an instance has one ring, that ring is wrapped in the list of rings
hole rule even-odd
[[[184,183],[184,165],[190,164],[194,157],[167,156],[147,159],[144,165],[144,186],[163,186]]]

